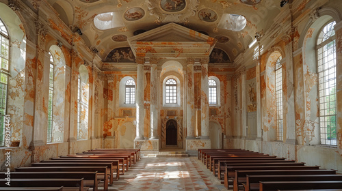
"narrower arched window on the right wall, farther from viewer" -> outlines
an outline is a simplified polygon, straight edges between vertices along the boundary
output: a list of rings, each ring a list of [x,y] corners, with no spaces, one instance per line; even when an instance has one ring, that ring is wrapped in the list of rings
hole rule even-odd
[[[276,130],[277,140],[283,140],[282,130],[282,65],[280,56],[276,61]]]

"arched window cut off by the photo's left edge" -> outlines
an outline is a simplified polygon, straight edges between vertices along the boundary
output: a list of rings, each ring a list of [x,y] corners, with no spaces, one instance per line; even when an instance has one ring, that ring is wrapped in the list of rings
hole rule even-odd
[[[7,94],[8,94],[8,74],[10,55],[8,30],[6,29],[3,21],[0,19],[0,146],[5,145],[5,115],[7,108]]]

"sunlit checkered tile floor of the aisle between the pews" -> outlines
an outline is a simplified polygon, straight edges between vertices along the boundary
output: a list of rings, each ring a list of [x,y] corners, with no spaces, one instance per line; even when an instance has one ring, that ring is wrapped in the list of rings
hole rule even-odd
[[[226,190],[195,157],[142,158],[109,190]]]

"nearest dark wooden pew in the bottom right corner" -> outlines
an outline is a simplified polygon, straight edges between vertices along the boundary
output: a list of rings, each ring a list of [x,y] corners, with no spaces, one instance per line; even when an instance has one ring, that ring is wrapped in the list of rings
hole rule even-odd
[[[342,181],[261,181],[260,191],[342,188]]]

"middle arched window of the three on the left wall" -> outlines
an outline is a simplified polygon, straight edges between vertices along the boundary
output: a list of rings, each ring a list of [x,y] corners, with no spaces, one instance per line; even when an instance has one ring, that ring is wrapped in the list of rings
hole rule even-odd
[[[53,57],[51,53],[50,55],[50,72],[49,72],[49,106],[47,112],[47,143],[52,142],[53,136],[53,77],[54,77],[54,65],[53,65]]]

